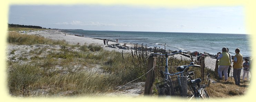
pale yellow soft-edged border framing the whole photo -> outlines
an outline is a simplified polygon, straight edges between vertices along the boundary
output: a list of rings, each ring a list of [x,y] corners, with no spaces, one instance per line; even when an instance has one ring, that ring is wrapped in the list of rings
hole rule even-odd
[[[166,7],[166,8],[193,8],[193,7],[206,7],[206,6],[242,6],[245,10],[245,24],[247,29],[247,34],[250,35],[250,42],[252,50],[255,51],[255,1],[254,0],[9,0],[9,1],[1,1],[1,61],[2,65],[1,69],[1,97],[3,101],[37,101],[37,102],[45,102],[45,101],[60,101],[60,102],[68,102],[68,101],[110,101],[110,102],[119,102],[119,101],[176,101],[176,100],[160,100],[160,99],[152,99],[152,98],[14,98],[9,95],[7,88],[7,73],[6,73],[6,47],[7,47],[7,28],[8,28],[8,15],[9,15],[9,7],[11,5],[76,5],[76,4],[100,4],[100,5],[130,5],[130,6],[139,6],[139,7]],[[242,38],[241,38],[242,39]],[[255,58],[255,54],[252,53],[253,58]],[[255,66],[255,63],[253,67]],[[255,68],[255,67],[254,67]],[[255,70],[253,71],[255,73]],[[253,75],[254,76],[254,75]],[[250,83],[250,87],[254,86],[255,78]],[[220,99],[221,101],[249,101],[253,99],[253,92],[255,88],[250,88],[247,91],[246,95],[240,99]],[[211,101],[220,101],[219,99],[214,99]],[[178,100],[177,100],[178,101]]]

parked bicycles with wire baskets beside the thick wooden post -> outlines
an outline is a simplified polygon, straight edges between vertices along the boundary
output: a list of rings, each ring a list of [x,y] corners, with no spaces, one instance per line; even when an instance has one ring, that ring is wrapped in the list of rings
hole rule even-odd
[[[206,93],[207,95],[206,97],[209,98],[209,95],[207,94],[207,92],[204,90],[203,87],[198,86],[199,88],[201,88],[198,92],[195,84],[198,85],[201,82],[201,80],[200,79],[193,80],[194,71],[187,71],[189,67],[200,68],[201,67],[200,65],[195,65],[194,62],[191,62],[189,65],[181,65],[177,67],[177,71],[179,71],[177,73],[170,72],[172,73],[170,74],[168,71],[168,56],[181,54],[190,58],[189,55],[184,54],[181,50],[179,52],[172,53],[172,54],[159,54],[159,53],[154,53],[154,54],[166,57],[165,71],[164,72],[160,71],[161,77],[164,77],[164,81],[159,82],[156,85],[159,95],[182,96],[182,97],[191,96],[192,98],[196,96],[195,98],[199,98],[198,93],[203,91],[204,93]],[[175,76],[175,75],[177,77],[171,78],[171,76]],[[191,92],[191,91],[193,91],[193,93],[192,95],[189,95],[188,92]]]

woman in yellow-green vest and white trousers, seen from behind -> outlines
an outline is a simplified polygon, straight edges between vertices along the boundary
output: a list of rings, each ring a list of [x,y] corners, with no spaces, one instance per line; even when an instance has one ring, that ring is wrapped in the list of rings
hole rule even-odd
[[[219,60],[218,65],[218,75],[219,75],[219,80],[222,80],[222,71],[224,71],[224,78],[225,81],[228,80],[228,76],[227,76],[227,71],[228,71],[228,67],[230,66],[230,62],[229,62],[229,55],[227,53],[227,48],[222,48],[222,53],[220,55],[217,55],[217,60]]]

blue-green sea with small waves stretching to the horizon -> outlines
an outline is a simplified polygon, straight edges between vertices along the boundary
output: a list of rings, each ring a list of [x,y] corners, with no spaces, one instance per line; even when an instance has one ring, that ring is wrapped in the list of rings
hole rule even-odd
[[[184,32],[139,32],[139,31],[91,31],[62,30],[69,34],[84,35],[89,38],[110,39],[120,43],[142,44],[149,47],[160,47],[169,50],[198,51],[217,54],[223,47],[235,55],[239,48],[244,57],[251,57],[252,43],[249,34],[224,33],[184,33]],[[103,41],[102,41],[103,43]]]

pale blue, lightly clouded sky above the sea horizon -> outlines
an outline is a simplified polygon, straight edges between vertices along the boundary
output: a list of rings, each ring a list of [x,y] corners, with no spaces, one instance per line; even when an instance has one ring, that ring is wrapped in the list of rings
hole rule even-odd
[[[246,34],[242,6],[11,5],[8,23],[56,29]]]

